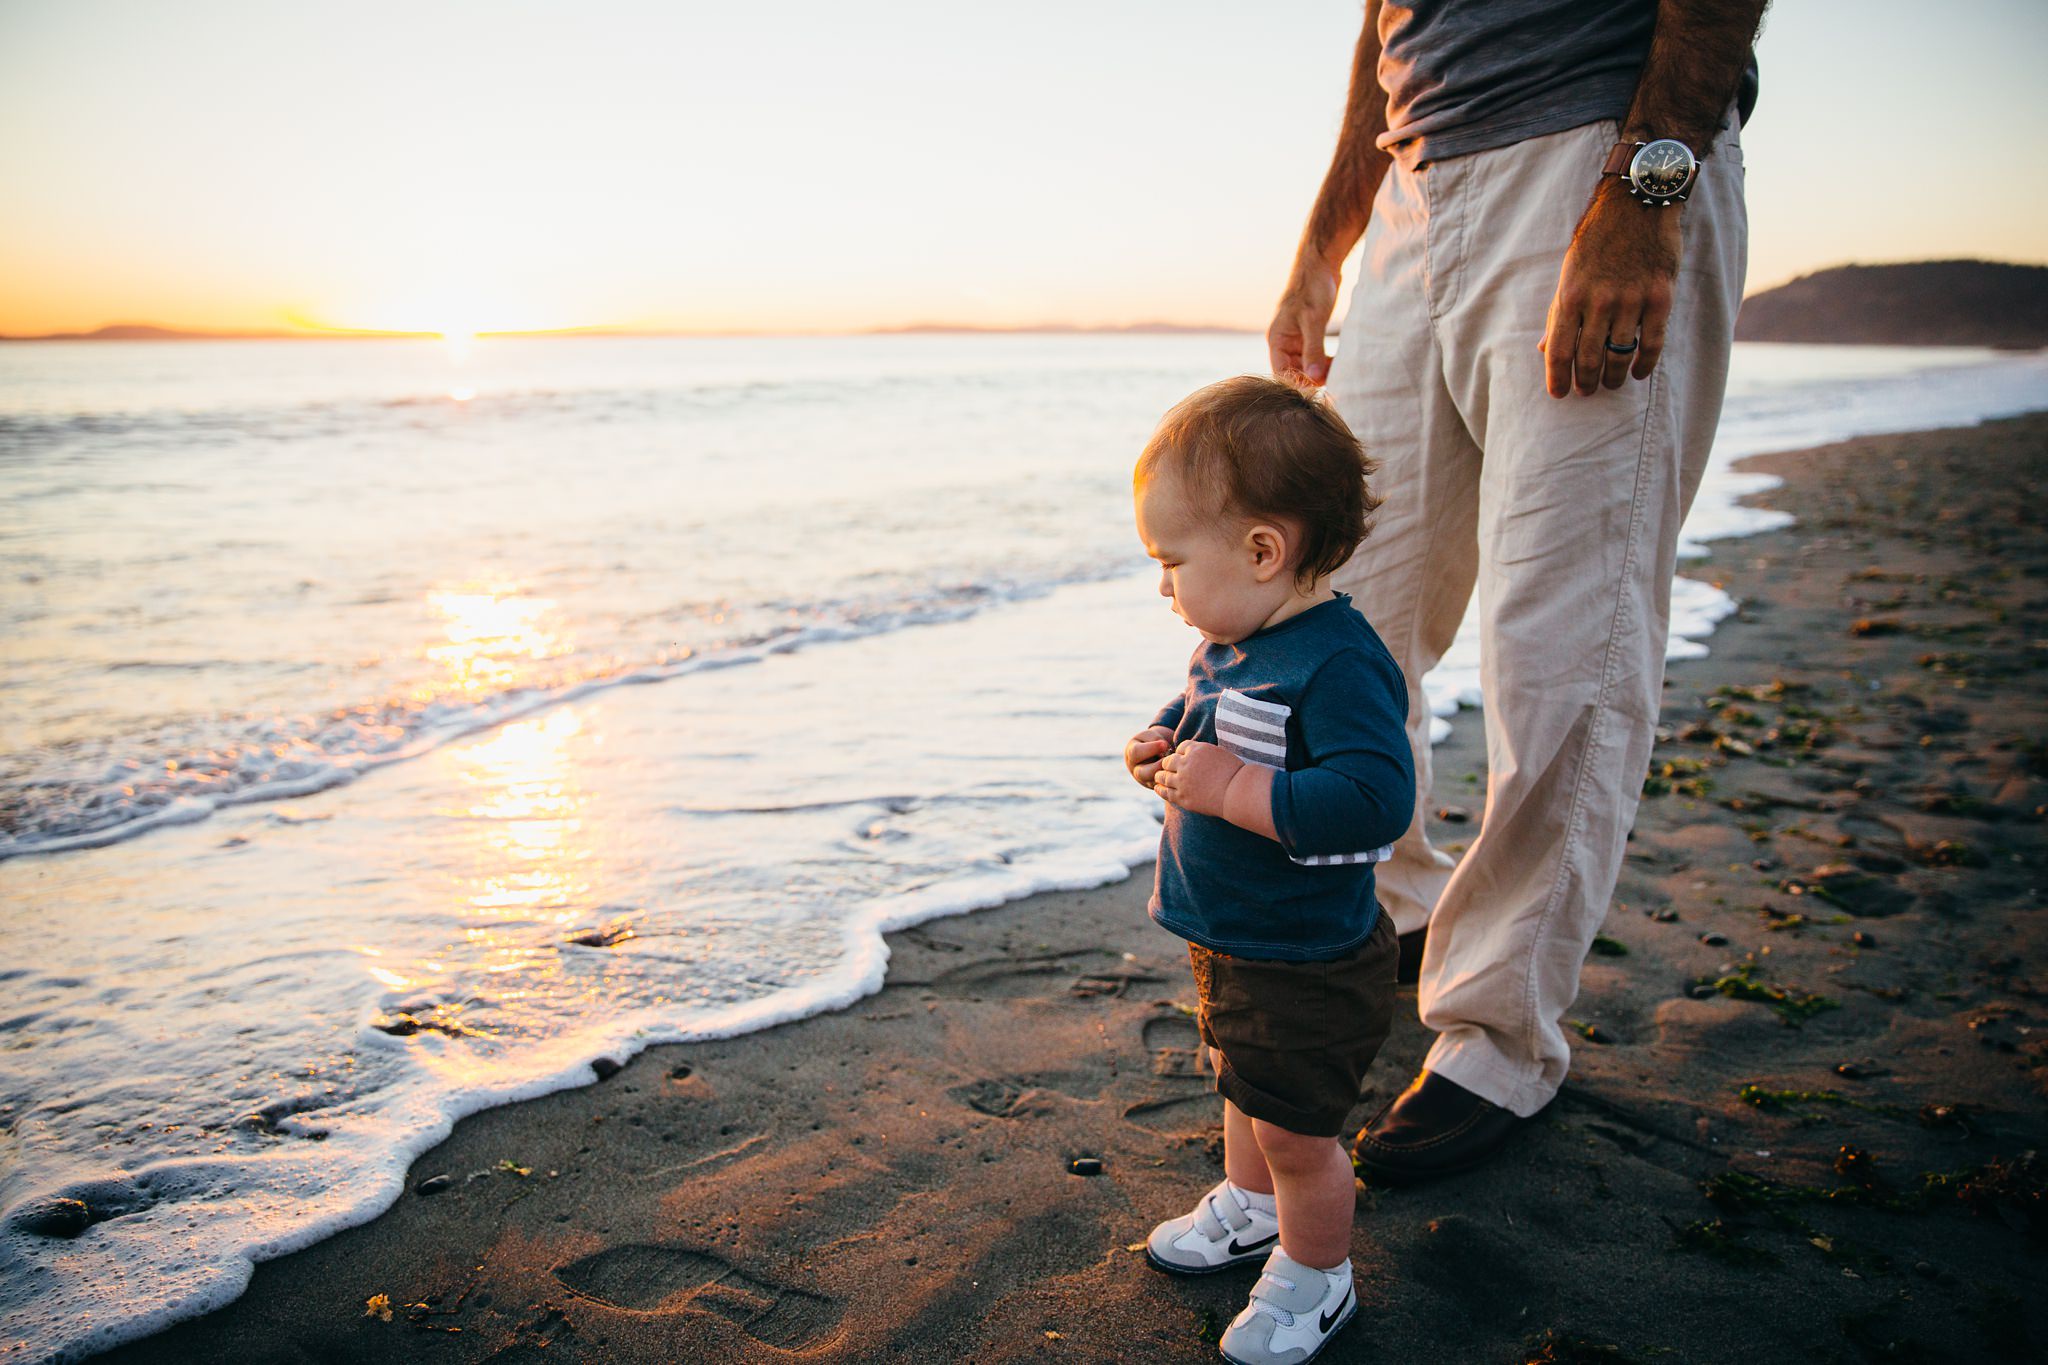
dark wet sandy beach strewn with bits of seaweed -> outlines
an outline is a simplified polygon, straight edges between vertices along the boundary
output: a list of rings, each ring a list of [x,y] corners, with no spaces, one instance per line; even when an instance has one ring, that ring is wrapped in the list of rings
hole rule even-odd
[[[1571,1081],[1483,1171],[1362,1195],[1323,1359],[2048,1342],[2048,417],[1749,469],[1798,524],[1692,567],[1743,606],[1669,671]],[[1221,1175],[1147,890],[895,933],[852,1009],[475,1115],[385,1216],[104,1359],[1212,1361],[1249,1271],[1137,1250]],[[1354,1124],[1425,1044],[1405,988]]]

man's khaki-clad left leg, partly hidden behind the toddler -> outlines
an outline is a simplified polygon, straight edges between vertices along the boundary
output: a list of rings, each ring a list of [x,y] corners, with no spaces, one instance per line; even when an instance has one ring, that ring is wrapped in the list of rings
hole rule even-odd
[[[1380,469],[1386,503],[1358,553],[1331,577],[1352,593],[1407,675],[1415,819],[1378,866],[1378,898],[1397,933],[1430,921],[1450,870],[1430,845],[1430,708],[1421,677],[1458,630],[1479,569],[1479,446],[1444,387],[1432,317],[1430,174],[1395,166],[1366,229],[1364,264],[1329,375],[1329,397]]]

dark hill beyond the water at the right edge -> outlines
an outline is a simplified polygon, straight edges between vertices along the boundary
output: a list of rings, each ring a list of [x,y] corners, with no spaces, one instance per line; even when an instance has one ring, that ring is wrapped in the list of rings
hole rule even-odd
[[[2048,346],[2048,266],[1837,266],[1743,299],[1737,342]]]

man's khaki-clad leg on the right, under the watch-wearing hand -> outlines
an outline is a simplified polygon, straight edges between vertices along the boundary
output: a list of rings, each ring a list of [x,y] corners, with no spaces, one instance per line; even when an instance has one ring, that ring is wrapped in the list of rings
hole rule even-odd
[[[1649,765],[1677,530],[1712,446],[1741,303],[1741,153],[1683,213],[1669,344],[1649,381],[1552,399],[1542,338],[1614,125],[1444,162],[1446,381],[1485,448],[1479,487],[1487,810],[1430,925],[1425,1068],[1516,1115],[1556,1093],[1561,1027],[1608,913]],[[1645,213],[1661,209],[1645,207]]]

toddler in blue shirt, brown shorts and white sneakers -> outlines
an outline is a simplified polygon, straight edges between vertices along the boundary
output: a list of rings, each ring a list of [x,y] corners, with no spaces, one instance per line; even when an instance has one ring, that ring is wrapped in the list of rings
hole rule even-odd
[[[1407,684],[1329,585],[1378,505],[1370,471],[1331,407],[1243,377],[1174,407],[1135,477],[1159,593],[1202,645],[1124,765],[1167,802],[1149,911],[1188,939],[1225,1144],[1225,1179],[1147,1259],[1264,1261],[1223,1334],[1239,1365],[1307,1361],[1358,1310],[1339,1134],[1393,1023],[1372,864],[1415,810]]]

